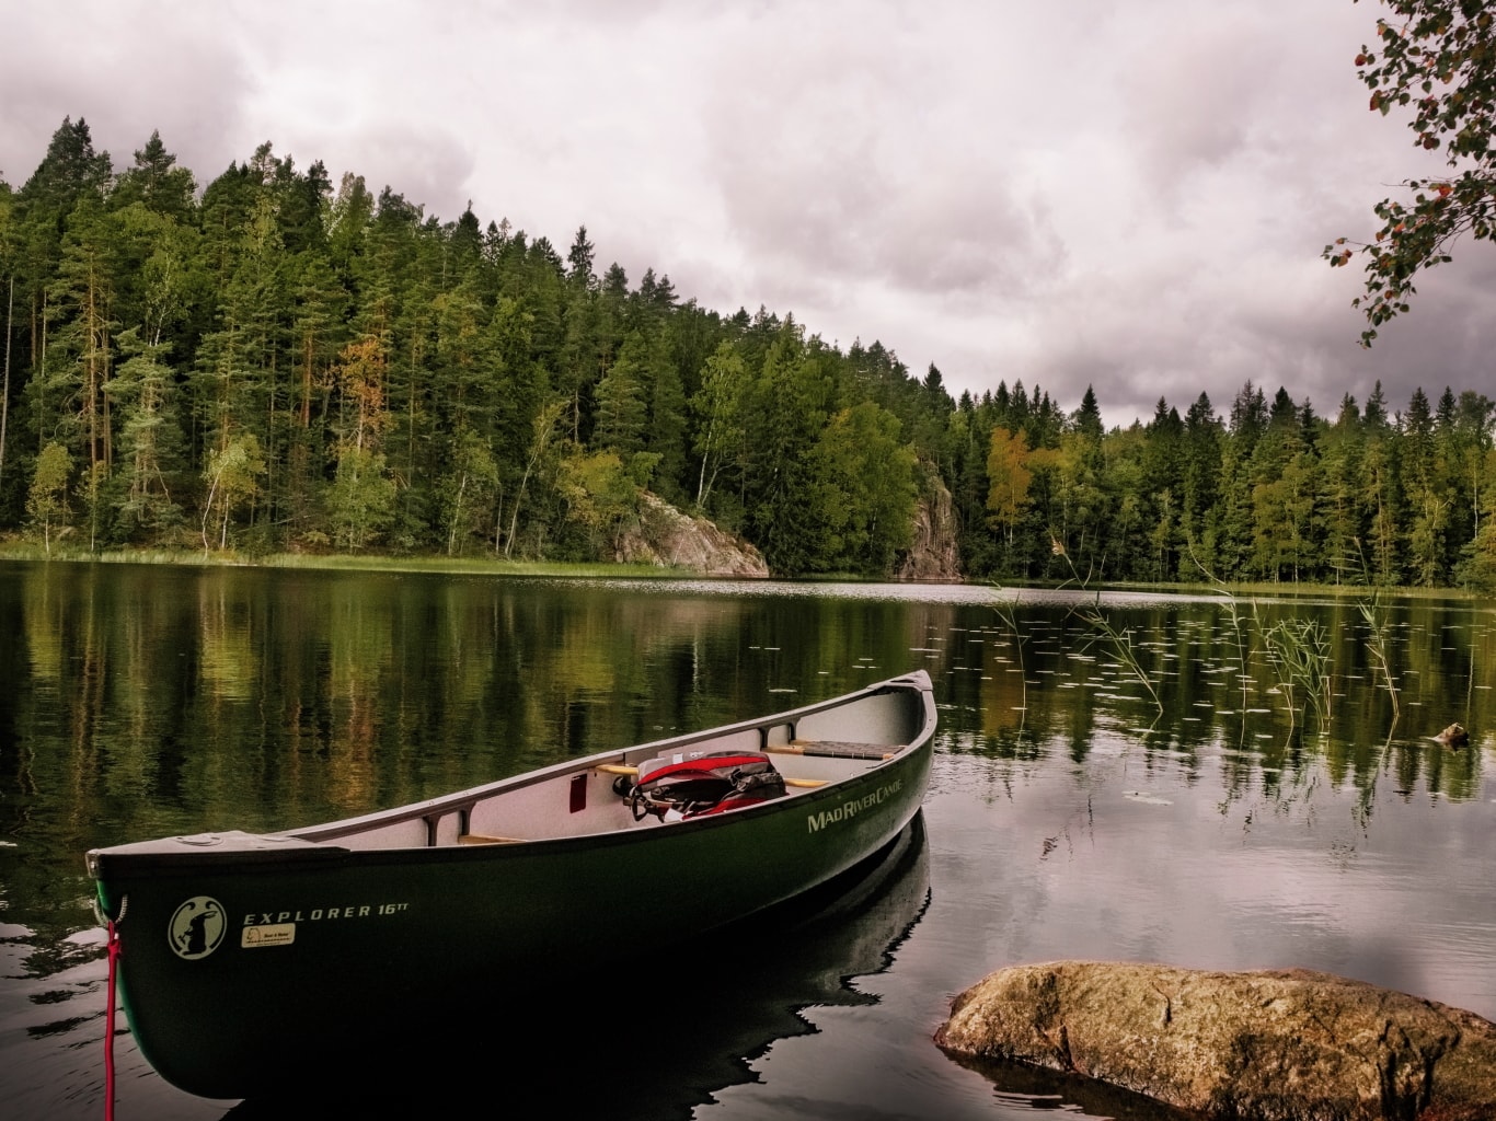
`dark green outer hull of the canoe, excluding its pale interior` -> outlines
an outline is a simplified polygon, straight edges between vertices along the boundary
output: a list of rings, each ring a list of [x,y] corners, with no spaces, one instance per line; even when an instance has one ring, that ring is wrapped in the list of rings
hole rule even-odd
[[[922,711],[914,743],[730,813],[510,844],[358,849],[304,831],[94,850],[141,1051],[188,1093],[244,1097],[374,1025],[440,1031],[428,1016],[462,1004],[519,1015],[537,988],[589,976],[624,991],[661,948],[826,883],[913,819],[934,702],[923,674],[895,680],[914,683],[896,689]]]

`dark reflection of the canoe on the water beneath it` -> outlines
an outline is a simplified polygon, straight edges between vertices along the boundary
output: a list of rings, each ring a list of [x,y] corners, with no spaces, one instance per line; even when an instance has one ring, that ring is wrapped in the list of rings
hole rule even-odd
[[[730,931],[627,972],[568,978],[522,1007],[474,992],[444,1022],[383,1025],[377,1043],[308,1057],[302,1088],[247,1099],[226,1118],[420,1115],[474,1100],[510,1114],[688,1118],[752,1081],[749,1061],[775,1040],[812,1031],[802,1009],[872,1003],[851,979],[889,967],[928,901],[916,815],[836,880]]]

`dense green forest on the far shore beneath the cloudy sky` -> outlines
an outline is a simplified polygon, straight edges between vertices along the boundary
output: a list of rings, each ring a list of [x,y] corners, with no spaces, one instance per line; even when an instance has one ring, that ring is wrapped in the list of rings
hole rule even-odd
[[[939,510],[968,580],[1496,589],[1472,389],[1321,416],[1264,369],[1106,430],[269,143],[199,190],[64,120],[0,179],[0,540],[49,553],[610,560],[651,492],[782,577],[896,575]]]

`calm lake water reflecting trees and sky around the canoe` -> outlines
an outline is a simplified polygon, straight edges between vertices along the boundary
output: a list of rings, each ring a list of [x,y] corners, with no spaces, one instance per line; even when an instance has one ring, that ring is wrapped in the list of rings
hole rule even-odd
[[[1297,966],[1496,1018],[1496,605],[1373,608],[0,562],[0,1112],[103,1115],[88,847],[307,825],[913,668],[941,714],[925,812],[841,894],[682,955],[664,986],[474,994],[471,1024],[329,1064],[295,1102],[183,1094],[121,1018],[120,1115],[480,1093],[651,1120],[1147,1115],[931,1042],[962,988],[1056,958]],[[1290,631],[1275,662],[1264,635]],[[1285,682],[1315,641],[1328,685]],[[1456,720],[1469,746],[1430,738]]]

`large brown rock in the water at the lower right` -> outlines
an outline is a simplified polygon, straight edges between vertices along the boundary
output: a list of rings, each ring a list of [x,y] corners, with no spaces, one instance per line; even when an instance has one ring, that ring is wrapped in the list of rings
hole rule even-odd
[[[1233,1121],[1496,1118],[1496,1024],[1309,970],[1014,966],[957,995],[935,1040]]]

